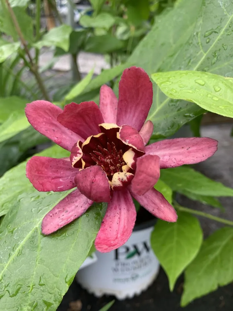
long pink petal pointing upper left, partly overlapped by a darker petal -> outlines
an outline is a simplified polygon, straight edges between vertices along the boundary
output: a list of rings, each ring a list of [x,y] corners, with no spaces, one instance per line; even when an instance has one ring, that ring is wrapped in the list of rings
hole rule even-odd
[[[25,114],[35,130],[51,139],[66,150],[71,150],[78,140],[83,138],[57,122],[62,109],[45,100],[36,100],[26,105]]]

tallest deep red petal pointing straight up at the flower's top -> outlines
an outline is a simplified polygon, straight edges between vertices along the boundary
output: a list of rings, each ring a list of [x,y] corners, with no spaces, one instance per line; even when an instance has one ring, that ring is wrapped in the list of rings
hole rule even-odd
[[[140,131],[152,100],[152,82],[147,73],[137,67],[125,69],[119,82],[117,125],[129,124]]]

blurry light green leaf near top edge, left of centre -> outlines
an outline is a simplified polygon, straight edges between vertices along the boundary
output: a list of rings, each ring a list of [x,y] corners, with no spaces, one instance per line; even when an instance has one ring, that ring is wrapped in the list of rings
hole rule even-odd
[[[83,27],[91,27],[91,28],[104,28],[108,30],[115,22],[115,18],[106,12],[102,12],[97,16],[88,16],[83,15],[80,18],[80,25]]]

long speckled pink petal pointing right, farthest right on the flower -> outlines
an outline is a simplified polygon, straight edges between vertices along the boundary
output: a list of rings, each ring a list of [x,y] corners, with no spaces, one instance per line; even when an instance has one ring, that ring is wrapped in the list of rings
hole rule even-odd
[[[208,137],[165,139],[145,147],[146,154],[160,157],[160,168],[194,164],[217,151],[217,140]]]

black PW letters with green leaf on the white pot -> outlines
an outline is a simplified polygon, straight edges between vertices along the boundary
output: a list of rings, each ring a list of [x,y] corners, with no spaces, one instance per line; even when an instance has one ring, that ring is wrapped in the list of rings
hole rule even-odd
[[[115,260],[129,259],[135,255],[141,256],[143,253],[148,253],[150,247],[147,242],[140,244],[133,244],[131,247],[123,245],[120,248],[115,249]]]

